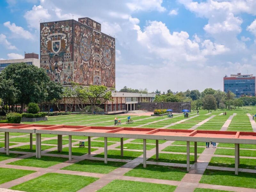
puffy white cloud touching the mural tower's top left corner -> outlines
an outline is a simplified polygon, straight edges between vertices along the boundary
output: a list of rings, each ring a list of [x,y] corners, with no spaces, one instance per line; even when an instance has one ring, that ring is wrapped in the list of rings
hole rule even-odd
[[[24,18],[27,20],[29,28],[38,30],[40,20],[42,20],[42,22],[49,20],[51,15],[48,13],[48,10],[44,9],[41,5],[34,5],[32,10],[25,13]]]

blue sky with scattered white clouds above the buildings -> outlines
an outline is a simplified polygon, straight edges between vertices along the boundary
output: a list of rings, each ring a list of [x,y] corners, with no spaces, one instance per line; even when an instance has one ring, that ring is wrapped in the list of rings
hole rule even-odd
[[[40,54],[40,22],[90,17],[116,38],[116,89],[223,90],[255,74],[256,0],[1,0],[0,60]]]

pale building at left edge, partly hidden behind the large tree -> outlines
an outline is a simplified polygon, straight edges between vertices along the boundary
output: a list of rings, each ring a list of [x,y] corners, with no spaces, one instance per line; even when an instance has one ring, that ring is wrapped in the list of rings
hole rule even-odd
[[[15,63],[27,63],[28,65],[35,65],[40,68],[40,61],[38,59],[38,54],[36,53],[25,53],[24,59],[9,59],[9,60],[0,60],[0,73],[4,70],[8,65]]]

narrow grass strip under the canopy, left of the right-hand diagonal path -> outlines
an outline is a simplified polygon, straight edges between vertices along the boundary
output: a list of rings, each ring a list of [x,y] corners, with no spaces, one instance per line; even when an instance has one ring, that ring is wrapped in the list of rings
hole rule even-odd
[[[190,164],[194,163],[195,161],[194,157],[195,157],[194,155],[190,155]],[[158,160],[156,160],[156,155],[154,155],[151,158],[149,158],[147,161],[187,164],[187,155],[159,153]]]

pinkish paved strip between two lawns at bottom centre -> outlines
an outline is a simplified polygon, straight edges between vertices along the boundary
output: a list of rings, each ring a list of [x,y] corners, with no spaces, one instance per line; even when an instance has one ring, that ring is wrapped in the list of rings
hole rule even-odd
[[[129,180],[129,181],[156,183],[156,184],[175,185],[175,186],[179,185],[179,183],[180,183],[180,181],[150,179],[150,178],[130,177],[130,176],[121,176],[119,179],[120,180]]]

